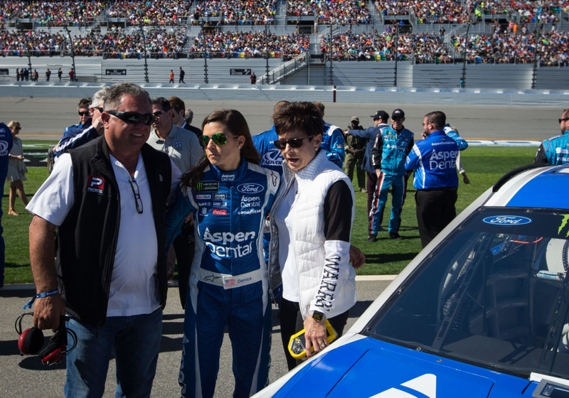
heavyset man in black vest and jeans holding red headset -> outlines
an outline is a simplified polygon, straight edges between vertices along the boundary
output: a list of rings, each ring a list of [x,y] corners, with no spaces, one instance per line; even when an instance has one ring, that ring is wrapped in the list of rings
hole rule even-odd
[[[154,116],[141,87],[110,87],[102,121],[105,133],[63,154],[27,207],[34,324],[55,330],[73,316],[65,397],[102,397],[111,353],[115,395],[149,397],[166,304],[164,213],[180,172],[145,144]]]

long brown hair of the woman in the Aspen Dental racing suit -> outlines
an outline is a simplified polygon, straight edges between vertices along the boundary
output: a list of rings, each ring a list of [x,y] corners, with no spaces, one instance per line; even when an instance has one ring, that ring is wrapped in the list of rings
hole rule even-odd
[[[201,129],[206,127],[209,123],[220,123],[228,129],[229,134],[232,136],[243,136],[245,137],[245,144],[241,147],[241,156],[245,158],[245,161],[250,163],[259,164],[260,155],[253,140],[251,139],[251,132],[249,131],[249,125],[243,117],[243,114],[235,109],[221,109],[219,111],[211,112],[206,119],[203,119],[201,124]],[[182,184],[193,187],[200,181],[203,171],[209,166],[208,158],[204,158],[201,163],[193,168],[191,171],[184,173],[181,178]]]

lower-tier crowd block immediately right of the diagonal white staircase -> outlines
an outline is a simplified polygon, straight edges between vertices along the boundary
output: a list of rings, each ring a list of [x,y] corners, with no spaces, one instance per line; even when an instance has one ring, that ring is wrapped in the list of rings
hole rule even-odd
[[[330,54],[328,37],[322,37],[320,45],[323,52]],[[428,33],[399,35],[395,43],[395,35],[389,33],[346,32],[332,37],[331,57],[336,61],[395,60],[398,57],[399,60],[414,58],[415,63],[452,63],[440,37]]]

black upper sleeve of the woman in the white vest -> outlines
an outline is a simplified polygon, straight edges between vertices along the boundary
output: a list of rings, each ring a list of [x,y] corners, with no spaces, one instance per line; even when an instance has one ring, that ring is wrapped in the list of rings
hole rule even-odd
[[[333,183],[324,199],[324,237],[326,240],[350,242],[351,191],[346,181]]]

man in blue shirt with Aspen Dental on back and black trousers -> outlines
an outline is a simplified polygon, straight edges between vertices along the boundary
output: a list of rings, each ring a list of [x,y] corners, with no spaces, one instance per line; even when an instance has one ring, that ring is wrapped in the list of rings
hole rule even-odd
[[[405,161],[405,170],[415,170],[413,187],[422,247],[427,246],[456,216],[458,145],[445,134],[443,112],[425,115],[421,141]]]

